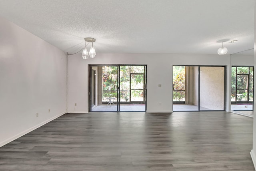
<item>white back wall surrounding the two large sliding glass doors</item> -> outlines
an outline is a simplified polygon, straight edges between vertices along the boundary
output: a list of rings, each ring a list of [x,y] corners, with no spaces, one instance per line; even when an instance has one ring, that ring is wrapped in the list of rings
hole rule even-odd
[[[229,55],[96,54],[93,59],[83,60],[80,54],[76,54],[68,57],[68,112],[70,113],[88,112],[88,64],[146,64],[147,112],[172,112],[173,65],[228,66],[227,75],[230,73]],[[162,87],[158,87],[158,84],[162,84]],[[228,84],[227,92],[230,91],[229,86]],[[77,103],[76,107],[74,103]]]

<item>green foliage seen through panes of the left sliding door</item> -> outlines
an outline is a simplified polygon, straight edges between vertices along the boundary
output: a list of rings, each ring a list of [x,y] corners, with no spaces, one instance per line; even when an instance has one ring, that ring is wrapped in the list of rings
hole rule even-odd
[[[120,66],[120,101],[144,101],[145,66]],[[118,67],[102,67],[102,101],[117,101]]]

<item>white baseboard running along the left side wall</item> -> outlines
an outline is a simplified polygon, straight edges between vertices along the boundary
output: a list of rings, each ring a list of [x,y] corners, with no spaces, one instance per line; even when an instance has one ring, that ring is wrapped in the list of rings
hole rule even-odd
[[[54,119],[56,119],[56,118],[58,118],[58,117],[64,115],[65,113],[67,113],[67,112],[65,111],[65,112],[63,112],[63,113],[60,113],[60,114],[58,114],[58,115],[56,115],[56,116],[54,116],[54,117],[52,117],[52,118],[50,118],[50,119],[47,119],[46,121],[44,121],[44,122],[42,122],[42,123],[39,123],[38,125],[36,125],[36,126],[34,126],[34,127],[31,127],[31,128],[29,128],[29,129],[27,129],[27,130],[25,130],[25,131],[22,131],[21,133],[18,133],[17,135],[14,135],[13,137],[10,137],[9,139],[6,139],[6,140],[0,142],[0,147],[2,147],[2,146],[4,146],[4,145],[6,145],[6,144],[8,144],[8,143],[10,143],[10,142],[12,142],[12,141],[14,141],[15,139],[17,139],[17,138],[19,138],[19,137],[22,137],[23,135],[26,135],[27,133],[29,133],[29,132],[31,132],[31,131],[33,131],[33,130],[39,128],[40,126],[42,126],[42,125],[44,125],[44,124],[46,124],[46,123],[48,123],[48,122],[50,122],[50,121],[52,121],[52,120],[54,120]]]

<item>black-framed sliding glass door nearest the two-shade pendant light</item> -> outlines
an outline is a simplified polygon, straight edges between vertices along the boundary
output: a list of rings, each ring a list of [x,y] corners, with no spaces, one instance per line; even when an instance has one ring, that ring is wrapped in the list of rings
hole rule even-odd
[[[146,66],[90,66],[90,111],[146,111]]]

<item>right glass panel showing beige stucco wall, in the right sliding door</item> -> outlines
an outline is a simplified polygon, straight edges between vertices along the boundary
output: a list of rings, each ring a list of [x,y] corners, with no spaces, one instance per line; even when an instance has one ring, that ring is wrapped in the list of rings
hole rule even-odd
[[[200,67],[200,111],[224,110],[224,67]]]

